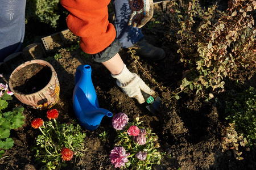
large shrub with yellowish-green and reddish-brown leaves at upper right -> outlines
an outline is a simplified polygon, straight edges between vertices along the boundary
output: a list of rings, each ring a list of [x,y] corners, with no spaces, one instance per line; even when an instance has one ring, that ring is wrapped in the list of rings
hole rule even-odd
[[[203,10],[199,1],[192,0],[185,14],[174,10],[180,24],[177,53],[187,68],[180,90],[203,94],[210,87],[221,92],[226,76],[255,71],[256,28],[250,15],[255,9],[255,0],[229,1],[225,12],[218,11],[216,5]]]

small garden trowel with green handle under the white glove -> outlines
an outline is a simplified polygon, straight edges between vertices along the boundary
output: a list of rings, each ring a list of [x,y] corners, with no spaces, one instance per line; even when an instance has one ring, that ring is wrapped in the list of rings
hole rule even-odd
[[[141,90],[141,93],[142,93],[144,99],[146,100],[146,103],[150,104],[150,105],[146,105],[146,108],[148,109],[148,111],[150,111],[152,114],[154,114],[156,116],[156,114],[158,112],[158,108],[160,107],[160,104],[162,103],[162,100],[160,99],[160,97],[156,97],[156,100],[154,100],[154,98],[151,95],[146,94],[142,90]]]

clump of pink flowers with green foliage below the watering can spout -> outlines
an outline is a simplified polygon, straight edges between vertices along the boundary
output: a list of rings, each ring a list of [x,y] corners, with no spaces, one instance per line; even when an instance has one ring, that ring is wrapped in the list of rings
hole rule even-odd
[[[125,120],[129,120],[125,113],[118,113],[118,116],[116,114],[112,120],[114,129],[117,127],[115,125],[123,125],[120,115],[125,117]],[[110,161],[115,168],[152,169],[153,164],[160,164],[161,155],[156,150],[160,147],[157,142],[158,137],[150,129],[143,128],[141,123],[142,121],[137,117],[133,122],[126,121],[123,128],[118,128],[120,130],[116,129],[115,146],[117,147],[110,152]]]

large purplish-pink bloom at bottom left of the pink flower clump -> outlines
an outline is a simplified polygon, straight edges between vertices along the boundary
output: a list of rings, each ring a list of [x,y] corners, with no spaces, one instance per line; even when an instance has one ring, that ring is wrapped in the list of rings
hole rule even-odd
[[[125,163],[129,162],[126,156],[129,155],[130,153],[125,153],[124,147],[114,147],[114,149],[110,151],[111,163],[115,165],[115,168],[120,168],[121,166],[125,167]]]

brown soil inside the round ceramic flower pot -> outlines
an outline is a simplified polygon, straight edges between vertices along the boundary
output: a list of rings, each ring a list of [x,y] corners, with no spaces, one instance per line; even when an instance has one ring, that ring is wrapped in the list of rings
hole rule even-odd
[[[48,66],[32,63],[13,74],[13,89],[28,95],[42,90],[51,80],[52,71]]]

